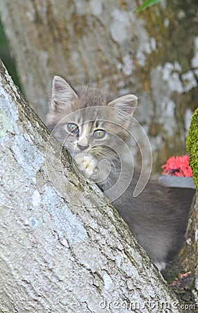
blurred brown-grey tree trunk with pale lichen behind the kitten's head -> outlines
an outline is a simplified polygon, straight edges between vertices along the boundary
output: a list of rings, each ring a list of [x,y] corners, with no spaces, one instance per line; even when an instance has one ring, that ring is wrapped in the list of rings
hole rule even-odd
[[[149,134],[159,171],[170,155],[185,153],[197,106],[197,0],[164,0],[139,14],[136,7],[132,0],[0,2],[24,93],[40,117],[54,74],[136,93],[135,117]]]

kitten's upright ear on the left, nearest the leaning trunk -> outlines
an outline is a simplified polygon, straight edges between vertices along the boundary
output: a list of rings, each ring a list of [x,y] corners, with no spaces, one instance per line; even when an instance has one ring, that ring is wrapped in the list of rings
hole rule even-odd
[[[73,99],[78,98],[74,89],[60,76],[53,77],[51,106],[54,110],[58,106],[70,104]]]

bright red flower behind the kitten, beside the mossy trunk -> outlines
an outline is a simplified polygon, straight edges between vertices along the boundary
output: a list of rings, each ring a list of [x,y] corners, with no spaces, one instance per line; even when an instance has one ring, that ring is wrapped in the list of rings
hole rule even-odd
[[[188,155],[170,157],[161,168],[163,168],[163,175],[192,177]]]

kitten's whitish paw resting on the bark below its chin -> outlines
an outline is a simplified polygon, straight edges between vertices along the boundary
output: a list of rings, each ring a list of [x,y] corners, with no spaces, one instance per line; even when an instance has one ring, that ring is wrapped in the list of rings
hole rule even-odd
[[[85,177],[90,177],[91,175],[94,174],[94,170],[96,166],[95,166],[94,159],[92,159],[90,155],[79,153],[76,155],[74,160],[76,161],[76,164],[79,170],[83,172],[83,175]]]

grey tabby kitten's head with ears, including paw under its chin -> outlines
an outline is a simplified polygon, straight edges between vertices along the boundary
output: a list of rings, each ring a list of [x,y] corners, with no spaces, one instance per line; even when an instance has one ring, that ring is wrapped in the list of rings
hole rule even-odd
[[[124,151],[130,116],[136,105],[134,95],[110,101],[102,90],[83,87],[75,93],[64,79],[54,77],[47,125],[67,147],[83,175],[96,181],[99,162],[116,163],[117,154]],[[106,164],[102,167],[104,179]]]

